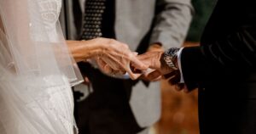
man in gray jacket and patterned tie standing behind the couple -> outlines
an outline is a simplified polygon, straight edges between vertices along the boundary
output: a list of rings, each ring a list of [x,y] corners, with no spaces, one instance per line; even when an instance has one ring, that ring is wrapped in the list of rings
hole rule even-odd
[[[190,0],[65,2],[66,14],[62,14],[61,20],[66,22],[62,26],[68,38],[114,38],[129,44],[131,50],[138,53],[180,47],[192,11]],[[140,81],[116,79],[84,63],[80,63],[80,70],[93,87],[86,90],[80,86],[87,92],[78,104],[80,133],[148,133],[148,127],[159,120],[159,82],[149,82],[152,80],[145,77]]]

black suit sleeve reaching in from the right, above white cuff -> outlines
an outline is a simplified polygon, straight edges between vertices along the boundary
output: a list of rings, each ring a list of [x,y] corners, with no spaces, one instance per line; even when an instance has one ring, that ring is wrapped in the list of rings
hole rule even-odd
[[[256,69],[256,25],[242,25],[236,32],[212,44],[184,47],[181,55],[183,79],[189,87],[201,81]]]

